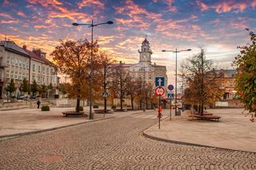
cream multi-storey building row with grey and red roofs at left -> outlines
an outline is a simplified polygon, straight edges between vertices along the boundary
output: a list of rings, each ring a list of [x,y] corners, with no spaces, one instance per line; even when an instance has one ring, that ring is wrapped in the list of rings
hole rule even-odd
[[[41,49],[30,51],[19,47],[12,41],[0,42],[0,97],[5,98],[5,88],[14,79],[16,95],[23,79],[30,84],[36,80],[38,85],[58,85],[54,65],[46,59]]]

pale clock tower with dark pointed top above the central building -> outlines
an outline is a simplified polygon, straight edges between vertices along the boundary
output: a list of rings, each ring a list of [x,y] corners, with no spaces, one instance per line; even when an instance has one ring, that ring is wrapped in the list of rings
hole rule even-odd
[[[139,53],[139,62],[144,62],[144,63],[151,63],[151,54],[152,51],[150,49],[150,42],[145,40],[142,42],[141,50],[138,49]]]

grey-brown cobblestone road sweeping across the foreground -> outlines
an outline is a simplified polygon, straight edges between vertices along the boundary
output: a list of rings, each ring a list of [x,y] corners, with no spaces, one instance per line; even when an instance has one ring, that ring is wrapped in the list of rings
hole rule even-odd
[[[153,113],[141,113],[2,140],[0,169],[256,169],[253,152],[141,135],[157,122]]]

